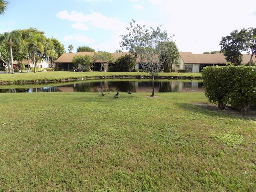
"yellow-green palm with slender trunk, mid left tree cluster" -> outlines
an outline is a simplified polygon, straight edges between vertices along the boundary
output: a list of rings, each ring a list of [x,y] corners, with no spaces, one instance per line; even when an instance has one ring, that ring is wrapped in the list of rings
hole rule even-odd
[[[43,56],[46,37],[40,33],[31,32],[25,41],[29,52],[32,53],[34,73],[36,73],[36,54],[41,57]]]

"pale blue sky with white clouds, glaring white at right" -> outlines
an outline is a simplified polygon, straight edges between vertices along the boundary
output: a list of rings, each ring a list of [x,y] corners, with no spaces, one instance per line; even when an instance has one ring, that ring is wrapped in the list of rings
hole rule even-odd
[[[96,51],[121,50],[120,35],[130,22],[161,26],[178,50],[201,54],[220,50],[222,36],[256,28],[255,0],[8,0],[0,33],[36,28],[56,38],[66,52],[72,45]]]

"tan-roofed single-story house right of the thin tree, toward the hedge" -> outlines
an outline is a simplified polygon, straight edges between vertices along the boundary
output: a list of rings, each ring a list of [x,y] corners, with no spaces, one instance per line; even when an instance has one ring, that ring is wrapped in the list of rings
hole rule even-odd
[[[250,61],[250,54],[243,54],[242,64],[247,64]],[[255,56],[252,58],[256,62]],[[188,72],[198,73],[202,72],[205,66],[226,66],[226,59],[224,54],[192,54],[191,52],[180,52],[180,66],[172,66],[175,72],[180,69],[187,69]]]

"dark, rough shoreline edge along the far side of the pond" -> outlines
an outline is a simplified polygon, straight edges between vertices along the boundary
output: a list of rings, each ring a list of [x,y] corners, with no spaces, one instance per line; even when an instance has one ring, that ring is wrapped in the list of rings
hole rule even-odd
[[[5,82],[1,81],[0,85],[8,84],[38,84],[38,83],[56,83],[56,82],[76,82],[83,80],[100,80],[100,79],[151,79],[152,76],[131,76],[131,75],[122,75],[122,76],[84,76],[79,78],[63,78],[63,79],[41,79],[41,80],[18,80]],[[154,79],[168,79],[168,80],[202,80],[202,76],[154,76]]]

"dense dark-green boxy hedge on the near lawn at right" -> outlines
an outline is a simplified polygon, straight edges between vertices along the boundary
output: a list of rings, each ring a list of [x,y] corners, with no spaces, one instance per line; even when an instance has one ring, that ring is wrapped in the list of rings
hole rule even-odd
[[[231,104],[246,113],[256,104],[256,67],[204,67],[202,79],[206,97],[221,110]]]

